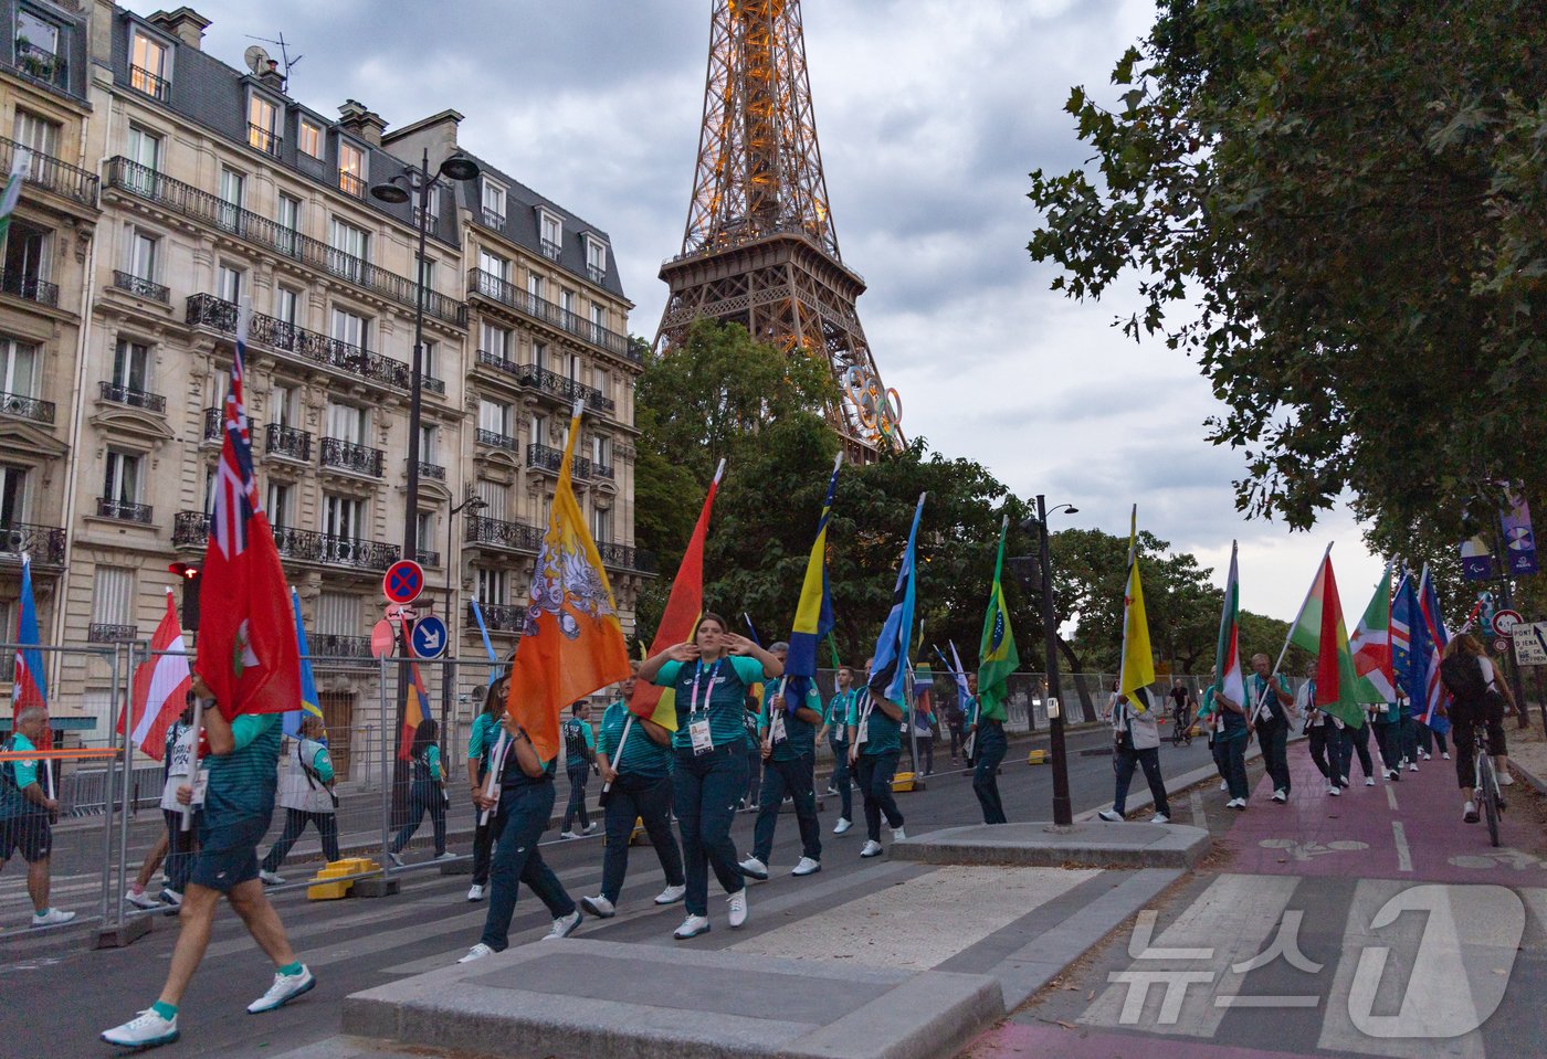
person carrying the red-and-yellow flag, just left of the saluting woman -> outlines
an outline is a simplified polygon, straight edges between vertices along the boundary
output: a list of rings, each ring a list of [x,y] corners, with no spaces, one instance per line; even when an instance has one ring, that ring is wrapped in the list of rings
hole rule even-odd
[[[603,920],[617,914],[617,897],[628,873],[628,839],[634,833],[636,819],[644,822],[667,877],[667,887],[656,895],[656,904],[676,904],[687,894],[682,850],[671,833],[671,733],[654,720],[628,711],[628,700],[639,682],[639,663],[630,662],[628,668],[630,677],[617,685],[617,702],[602,714],[602,734],[596,748],[605,784],[602,894],[580,898],[580,907]]]

